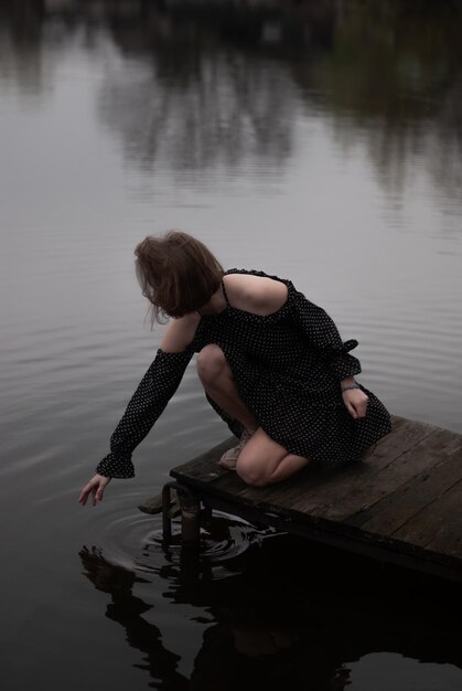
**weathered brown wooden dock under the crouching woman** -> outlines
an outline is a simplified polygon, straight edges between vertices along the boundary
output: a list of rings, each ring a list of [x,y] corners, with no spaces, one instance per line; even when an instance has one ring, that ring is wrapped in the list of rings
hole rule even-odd
[[[235,444],[171,471],[205,510],[462,581],[462,435],[394,417],[393,432],[354,465],[307,468],[267,488],[217,465]]]

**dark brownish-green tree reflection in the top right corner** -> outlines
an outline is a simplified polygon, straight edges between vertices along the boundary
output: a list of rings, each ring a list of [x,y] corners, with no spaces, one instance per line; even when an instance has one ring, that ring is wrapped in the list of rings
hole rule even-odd
[[[417,159],[460,199],[461,35],[451,3],[345,2],[332,50],[294,77],[322,98],[345,148],[366,143],[385,185],[402,188]]]

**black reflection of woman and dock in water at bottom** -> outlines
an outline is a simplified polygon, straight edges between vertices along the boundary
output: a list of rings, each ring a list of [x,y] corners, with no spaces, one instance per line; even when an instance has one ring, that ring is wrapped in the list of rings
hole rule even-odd
[[[95,587],[111,596],[106,616],[146,656],[141,668],[154,679],[153,688],[341,691],[348,685],[348,663],[377,651],[462,668],[455,587],[449,586],[447,598],[437,596],[430,580],[380,571],[367,560],[342,561],[340,577],[337,553],[310,546],[307,564],[305,546],[296,539],[266,540],[239,556],[245,563],[239,575],[225,580],[215,580],[204,563],[195,580],[185,578],[179,564],[153,570],[166,583],[164,597],[172,604],[192,605],[197,616],[205,610],[214,621],[189,681],[178,673],[178,657],[165,649],[161,630],[143,618],[151,606],[132,593],[149,577],[146,572],[139,578],[110,564],[100,550],[84,548],[80,559]],[[420,679],[418,666],[413,670]]]

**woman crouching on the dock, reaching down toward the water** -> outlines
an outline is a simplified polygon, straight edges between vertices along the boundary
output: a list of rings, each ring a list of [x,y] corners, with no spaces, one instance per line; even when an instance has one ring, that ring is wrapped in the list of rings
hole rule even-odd
[[[100,501],[111,478],[133,477],[131,454],[194,353],[211,405],[239,439],[219,464],[248,485],[278,482],[309,463],[347,465],[390,430],[386,408],[354,379],[357,341],[343,343],[332,319],[290,280],[224,272],[203,243],[178,231],[147,237],[135,254],[153,318],[173,319],[82,504]]]

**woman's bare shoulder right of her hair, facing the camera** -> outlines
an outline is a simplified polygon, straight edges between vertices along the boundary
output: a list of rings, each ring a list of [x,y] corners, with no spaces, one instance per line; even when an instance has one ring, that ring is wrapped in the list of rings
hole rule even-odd
[[[224,283],[232,307],[261,317],[277,312],[288,297],[287,285],[269,276],[227,274]]]

